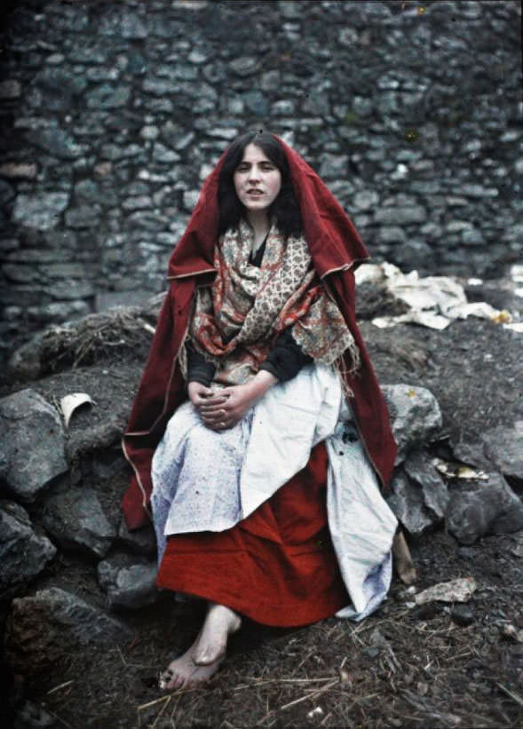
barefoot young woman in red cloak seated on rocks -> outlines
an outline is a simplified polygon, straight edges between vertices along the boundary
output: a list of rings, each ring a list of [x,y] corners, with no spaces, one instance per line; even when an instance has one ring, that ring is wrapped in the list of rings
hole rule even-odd
[[[123,444],[123,510],[154,520],[158,585],[208,602],[164,689],[208,680],[242,615],[358,620],[388,590],[396,447],[355,320],[365,258],[272,134],[235,139],[202,188]]]

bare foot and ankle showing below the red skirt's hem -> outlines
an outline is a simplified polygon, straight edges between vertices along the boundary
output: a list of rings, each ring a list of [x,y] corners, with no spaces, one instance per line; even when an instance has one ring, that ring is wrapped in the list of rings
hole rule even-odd
[[[185,654],[170,662],[160,675],[161,689],[192,688],[214,676],[226,657],[227,639],[239,630],[240,616],[234,610],[210,603],[202,630]]]

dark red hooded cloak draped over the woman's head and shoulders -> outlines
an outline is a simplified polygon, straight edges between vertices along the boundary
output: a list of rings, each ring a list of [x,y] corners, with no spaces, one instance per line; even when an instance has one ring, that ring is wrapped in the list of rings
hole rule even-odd
[[[361,368],[346,375],[353,392],[356,423],[367,454],[387,487],[392,474],[396,444],[383,394],[361,339],[355,314],[354,268],[368,257],[345,210],[321,178],[281,139],[275,137],[289,162],[290,177],[304,223],[305,240],[313,265],[331,297],[337,302],[361,353]],[[155,447],[178,405],[186,400],[186,387],[178,365],[178,351],[186,336],[191,301],[199,276],[212,280],[214,246],[218,239],[218,178],[226,152],[207,178],[186,232],[173,251],[168,279],[170,288],[158,319],[146,368],[123,437],[123,451],[133,474],[123,496],[127,525],[137,528],[148,519],[152,490],[150,467]],[[347,362],[349,369],[350,362]]]

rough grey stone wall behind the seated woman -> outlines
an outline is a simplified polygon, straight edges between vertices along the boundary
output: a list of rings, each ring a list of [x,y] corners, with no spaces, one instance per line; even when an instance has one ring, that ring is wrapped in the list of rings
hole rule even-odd
[[[281,134],[376,261],[492,276],[523,237],[520,4],[20,0],[0,44],[2,333],[165,288],[227,142]]]

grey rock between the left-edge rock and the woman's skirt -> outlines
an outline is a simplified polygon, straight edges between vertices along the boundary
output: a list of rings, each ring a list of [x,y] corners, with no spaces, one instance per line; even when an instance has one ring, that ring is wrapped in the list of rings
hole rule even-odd
[[[89,487],[49,496],[42,521],[62,549],[83,551],[95,558],[106,556],[116,536],[96,492]]]

